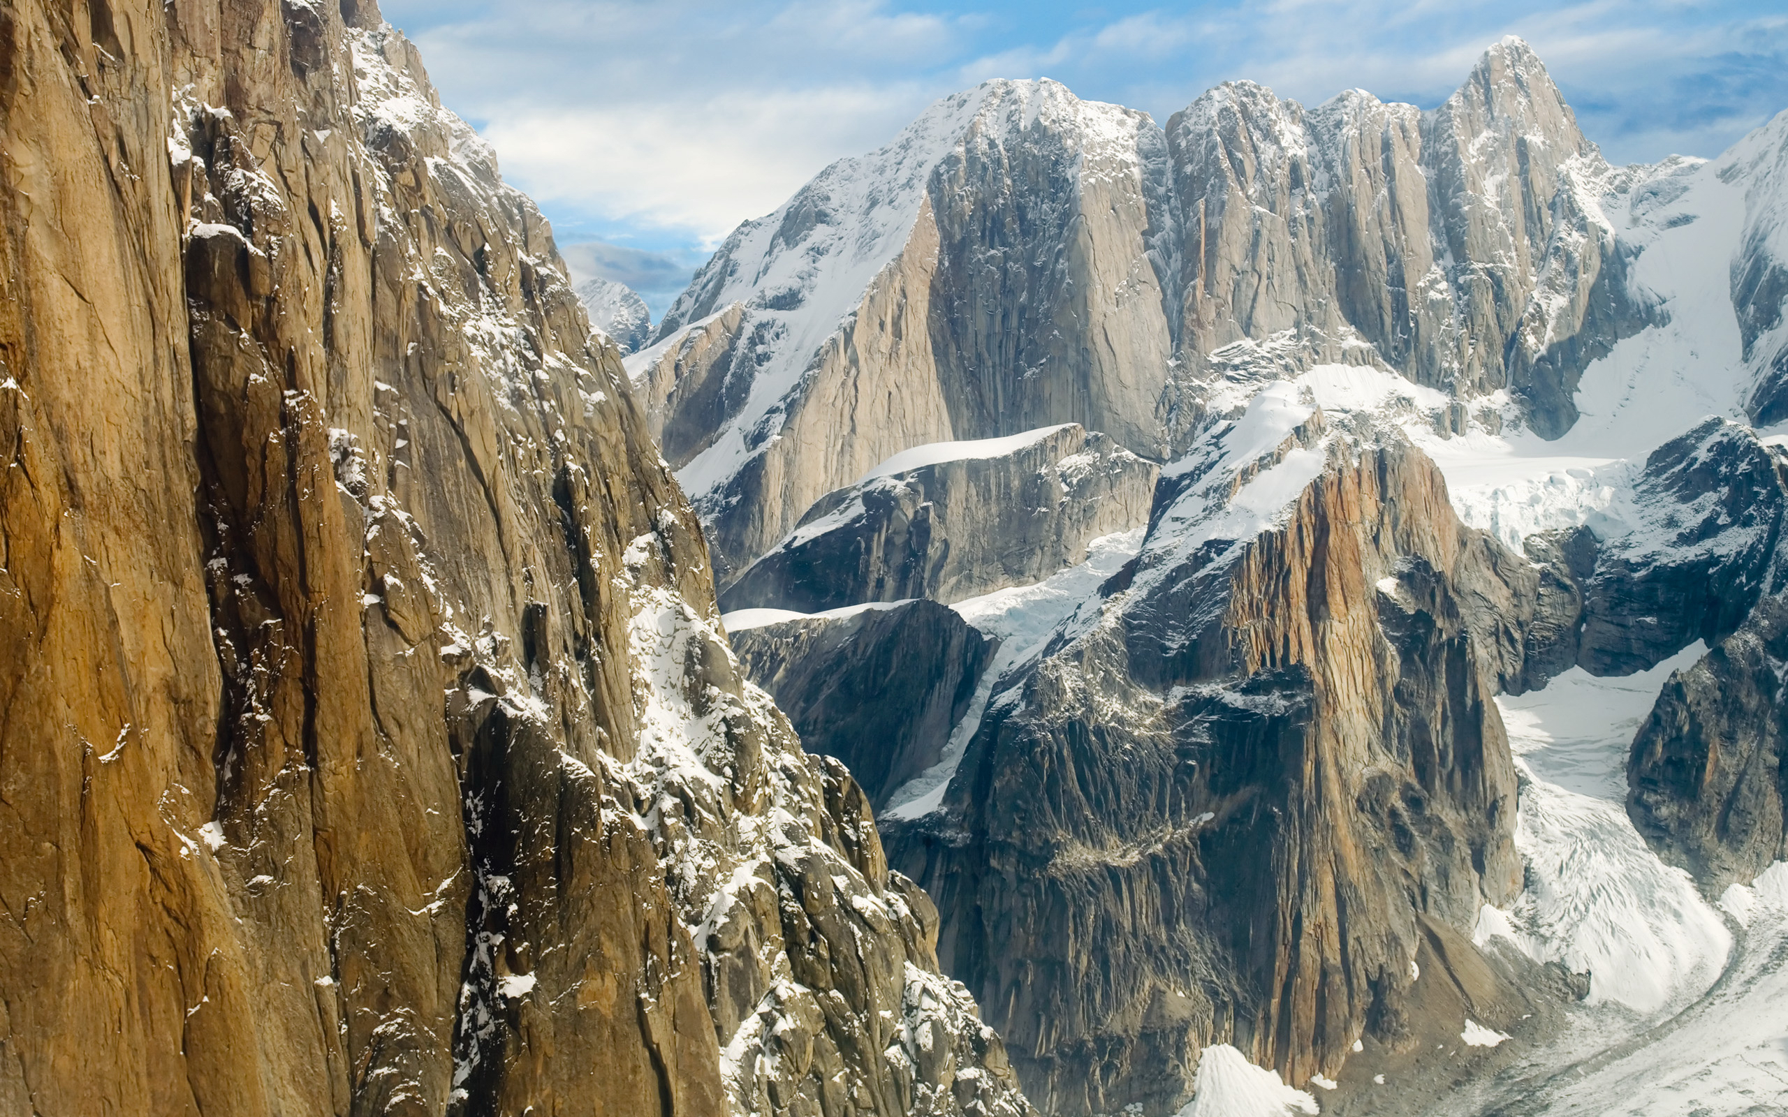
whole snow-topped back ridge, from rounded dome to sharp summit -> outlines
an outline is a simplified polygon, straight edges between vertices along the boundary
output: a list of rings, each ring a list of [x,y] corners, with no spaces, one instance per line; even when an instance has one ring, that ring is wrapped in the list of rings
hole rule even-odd
[[[1430,113],[1230,82],[1162,130],[989,82],[742,225],[629,368],[722,583],[899,450],[1075,422],[1160,459],[1323,363],[1550,438],[1663,315],[1604,214],[1634,175],[1518,39]]]

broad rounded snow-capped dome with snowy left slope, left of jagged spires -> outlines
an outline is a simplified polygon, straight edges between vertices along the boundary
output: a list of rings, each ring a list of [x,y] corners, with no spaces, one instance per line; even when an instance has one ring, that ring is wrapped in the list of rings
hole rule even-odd
[[[740,225],[628,363],[722,584],[915,445],[1075,422],[1159,458],[1164,152],[1143,113],[987,82]],[[665,375],[697,331],[712,357]]]

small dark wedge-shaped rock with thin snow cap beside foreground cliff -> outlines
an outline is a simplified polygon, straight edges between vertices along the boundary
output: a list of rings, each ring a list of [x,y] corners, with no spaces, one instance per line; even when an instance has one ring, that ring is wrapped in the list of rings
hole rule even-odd
[[[733,629],[731,640],[806,751],[844,761],[878,811],[942,758],[998,647],[933,600]]]

